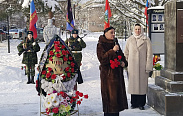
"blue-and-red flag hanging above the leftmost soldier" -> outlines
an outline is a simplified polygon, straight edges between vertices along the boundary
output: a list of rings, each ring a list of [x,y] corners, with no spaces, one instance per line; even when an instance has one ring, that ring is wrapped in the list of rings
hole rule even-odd
[[[30,24],[29,24],[29,30],[33,32],[33,38],[37,38],[37,29],[36,29],[36,22],[38,20],[34,0],[30,3]]]

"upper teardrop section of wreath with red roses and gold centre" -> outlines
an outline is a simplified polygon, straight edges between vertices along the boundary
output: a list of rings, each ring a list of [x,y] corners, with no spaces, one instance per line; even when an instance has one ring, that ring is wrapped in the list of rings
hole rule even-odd
[[[72,79],[77,72],[73,57],[60,41],[54,41],[47,60],[47,64],[50,65],[47,67],[45,65],[41,73],[41,77],[47,81],[54,83],[57,75],[62,78],[62,81],[68,81]],[[57,65],[57,67],[54,65]]]

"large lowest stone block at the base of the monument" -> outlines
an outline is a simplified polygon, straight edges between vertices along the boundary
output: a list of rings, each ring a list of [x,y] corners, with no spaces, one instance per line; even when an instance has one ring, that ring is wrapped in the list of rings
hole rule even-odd
[[[183,92],[169,93],[157,85],[149,85],[147,104],[164,116],[183,116]]]

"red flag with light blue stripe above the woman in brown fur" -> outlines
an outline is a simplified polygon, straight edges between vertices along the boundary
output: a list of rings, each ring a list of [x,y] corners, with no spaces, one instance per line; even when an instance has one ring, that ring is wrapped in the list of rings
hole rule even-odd
[[[108,0],[105,2],[105,21],[104,30],[110,26],[109,18],[111,17],[111,9]]]

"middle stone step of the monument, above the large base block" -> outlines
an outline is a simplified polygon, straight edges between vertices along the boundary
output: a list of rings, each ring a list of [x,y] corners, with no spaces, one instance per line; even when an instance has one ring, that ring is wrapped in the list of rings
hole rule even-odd
[[[183,81],[171,81],[162,76],[155,78],[155,85],[162,87],[164,90],[169,92],[183,92]]]

